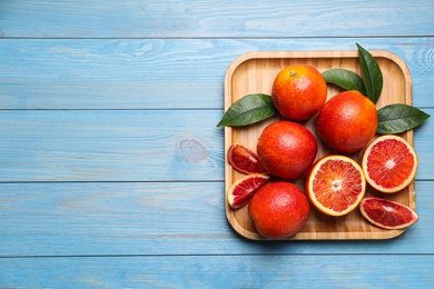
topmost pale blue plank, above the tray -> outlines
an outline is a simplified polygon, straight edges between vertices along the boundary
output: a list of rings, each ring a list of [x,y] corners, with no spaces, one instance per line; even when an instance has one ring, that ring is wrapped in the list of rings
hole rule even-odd
[[[430,0],[18,1],[0,3],[7,38],[432,36]]]

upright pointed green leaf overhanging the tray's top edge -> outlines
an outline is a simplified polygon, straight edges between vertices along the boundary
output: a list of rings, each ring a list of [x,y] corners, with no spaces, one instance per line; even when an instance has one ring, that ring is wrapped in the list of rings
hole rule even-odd
[[[366,97],[372,102],[378,101],[383,89],[383,74],[375,58],[363,47],[356,43],[362,68],[363,80],[366,87]]]

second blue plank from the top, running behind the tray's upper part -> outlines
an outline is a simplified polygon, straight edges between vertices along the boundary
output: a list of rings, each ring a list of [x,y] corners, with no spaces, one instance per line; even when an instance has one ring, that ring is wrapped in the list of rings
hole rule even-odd
[[[3,39],[0,109],[221,109],[229,64],[250,51],[368,50],[408,66],[414,106],[432,107],[434,38]]]

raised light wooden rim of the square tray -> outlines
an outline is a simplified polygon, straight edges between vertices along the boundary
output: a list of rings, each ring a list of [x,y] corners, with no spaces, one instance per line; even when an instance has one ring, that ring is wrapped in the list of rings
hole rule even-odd
[[[369,53],[375,58],[386,58],[393,62],[395,62],[402,72],[404,73],[404,81],[405,81],[405,103],[412,104],[413,98],[412,98],[412,76],[410,72],[408,67],[406,63],[396,54],[385,51],[385,50],[369,50]],[[225,111],[228,109],[228,107],[231,104],[231,78],[236,69],[244,63],[245,61],[253,60],[253,59],[289,59],[289,58],[308,58],[308,59],[319,59],[319,58],[357,58],[358,52],[356,50],[323,50],[323,51],[250,51],[246,52],[238,58],[236,58],[228,67],[226,74],[225,74]],[[414,146],[414,131],[410,130],[406,131],[406,139],[407,141]],[[227,203],[227,195],[226,192],[229,190],[230,185],[228,183],[228,179],[231,179],[231,168],[228,165],[227,161],[227,149],[231,144],[231,128],[225,127],[225,212],[226,218],[229,225],[233,227],[233,229],[238,232],[244,238],[250,239],[250,240],[267,240],[257,232],[251,232],[246,229],[244,229],[239,222],[233,222],[230,220],[230,216],[235,213],[234,210],[231,210]],[[410,196],[412,195],[412,196]],[[416,209],[416,196],[415,196],[415,181],[413,180],[412,183],[408,186],[408,198],[413,197],[413,209]],[[234,217],[235,219],[235,217]],[[297,232],[295,236],[280,240],[280,241],[319,241],[319,240],[386,240],[396,238],[400,235],[404,233],[406,229],[401,230],[384,230],[382,232],[382,236],[376,236],[375,232]],[[316,238],[307,238],[308,236],[315,235]],[[335,237],[332,237],[335,236]],[[348,235],[351,235],[348,237]],[[378,233],[377,233],[378,235]],[[366,238],[366,236],[369,236],[369,238]]]

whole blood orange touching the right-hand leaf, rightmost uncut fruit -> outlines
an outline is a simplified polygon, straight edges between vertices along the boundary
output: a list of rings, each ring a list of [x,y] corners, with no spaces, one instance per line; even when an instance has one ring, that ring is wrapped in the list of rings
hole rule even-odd
[[[378,113],[375,104],[358,91],[345,91],[329,99],[316,120],[319,137],[334,150],[351,153],[375,136]]]

